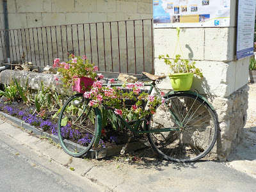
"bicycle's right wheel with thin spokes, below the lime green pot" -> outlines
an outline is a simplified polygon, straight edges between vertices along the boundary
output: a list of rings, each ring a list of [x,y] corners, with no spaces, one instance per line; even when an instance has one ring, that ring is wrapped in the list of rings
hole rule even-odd
[[[210,152],[218,122],[207,102],[188,93],[174,93],[148,117],[148,140],[166,160],[196,161]],[[159,129],[159,131],[154,131]],[[164,131],[162,132],[161,129]]]

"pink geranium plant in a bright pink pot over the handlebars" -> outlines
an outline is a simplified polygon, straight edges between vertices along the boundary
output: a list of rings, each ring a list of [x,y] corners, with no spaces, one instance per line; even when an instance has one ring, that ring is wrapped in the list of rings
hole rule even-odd
[[[58,67],[65,88],[72,86],[72,90],[84,93],[95,81],[95,77],[97,77],[95,71],[98,70],[98,67],[90,63],[86,56],[81,58],[70,54],[68,58],[70,60],[67,62],[60,62],[60,59],[56,58],[52,67]],[[58,80],[58,77],[55,79]]]

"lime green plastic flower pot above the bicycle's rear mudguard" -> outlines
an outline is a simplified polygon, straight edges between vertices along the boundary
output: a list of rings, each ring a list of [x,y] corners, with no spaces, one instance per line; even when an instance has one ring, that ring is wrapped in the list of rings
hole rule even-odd
[[[175,91],[188,91],[193,82],[194,73],[184,74],[168,74],[170,77],[172,88]]]

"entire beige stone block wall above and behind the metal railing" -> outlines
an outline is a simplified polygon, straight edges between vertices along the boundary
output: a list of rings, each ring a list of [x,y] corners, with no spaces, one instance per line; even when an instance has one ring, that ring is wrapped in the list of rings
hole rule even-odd
[[[1,11],[1,8],[0,8]],[[60,25],[68,24],[84,24],[92,22],[110,22],[115,20],[133,20],[133,19],[152,19],[152,1],[116,1],[116,0],[8,0],[8,20],[10,29],[34,28],[26,30],[14,31],[11,36],[12,40],[21,40],[23,45],[18,46],[12,44],[10,54],[12,61],[23,63],[31,61],[33,58],[33,65],[52,65],[54,58],[64,58],[67,60],[67,52],[72,52],[77,56],[84,54],[84,44],[86,44],[86,56],[93,58],[92,62],[104,67],[104,48],[106,55],[106,63],[110,63],[111,58],[111,42],[110,42],[110,28],[109,23],[104,26],[104,38],[102,24],[91,26],[91,36],[89,34],[88,24],[83,26],[67,26],[60,27]],[[3,25],[2,25],[3,26]],[[43,28],[44,26],[58,26],[57,28]],[[141,22],[135,22],[136,33],[136,62],[143,63],[143,39]],[[127,47],[126,51],[126,34],[125,22],[119,23],[119,37],[120,37],[120,62],[122,70],[126,70],[126,54],[128,52],[129,58],[129,72],[134,73],[134,29],[133,22],[127,22]],[[2,27],[3,28],[3,27]],[[72,31],[73,30],[73,31]],[[113,51],[113,68],[119,69],[119,52],[117,39],[117,24],[111,24],[112,35],[112,51]],[[67,31],[67,32],[66,32]],[[85,31],[85,32],[84,32]],[[62,32],[62,34],[61,34]],[[152,63],[151,50],[151,30],[150,20],[145,22],[144,26],[144,46],[145,46],[145,63],[148,65]],[[46,35],[47,33],[47,35]],[[55,35],[55,33],[57,35]],[[77,35],[78,33],[78,35]],[[52,35],[51,35],[52,34]],[[84,40],[84,36],[85,40]],[[68,40],[67,40],[68,36]],[[90,42],[92,38],[92,43]],[[98,39],[97,39],[98,38]],[[98,40],[98,50],[97,50]],[[106,47],[103,42],[105,40]],[[62,42],[61,42],[62,41]],[[25,44],[26,42],[26,44]],[[30,43],[30,44],[29,44]],[[25,45],[28,45],[27,47]],[[92,54],[90,47],[92,46]],[[58,49],[58,48],[59,49]],[[43,52],[44,49],[44,52]],[[59,54],[57,54],[57,49]],[[60,49],[63,49],[60,51]],[[78,49],[82,50],[81,52]],[[47,52],[49,51],[49,54]],[[1,56],[0,50],[0,57]],[[17,54],[16,54],[17,52]],[[99,52],[99,62],[98,62]],[[53,53],[53,55],[52,55]],[[48,58],[49,55],[49,58]],[[36,57],[36,60],[35,60]],[[0,60],[1,60],[0,58]],[[107,66],[106,70],[111,70]],[[131,70],[131,71],[130,71]],[[141,65],[137,68],[141,71]]]

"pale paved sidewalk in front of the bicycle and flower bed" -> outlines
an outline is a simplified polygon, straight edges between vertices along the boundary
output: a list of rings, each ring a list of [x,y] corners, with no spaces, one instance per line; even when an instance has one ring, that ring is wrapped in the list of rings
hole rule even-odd
[[[118,161],[86,161],[70,157],[47,140],[31,136],[9,122],[0,120],[0,140],[20,154],[36,152],[31,156],[38,166],[61,169],[74,168],[64,179],[79,175],[100,191],[256,191],[256,179],[214,161],[172,163],[152,161],[145,164],[118,163]],[[20,148],[23,148],[20,149]],[[40,159],[51,159],[51,162]],[[76,184],[76,182],[74,181]],[[90,191],[90,189],[84,189]]]

